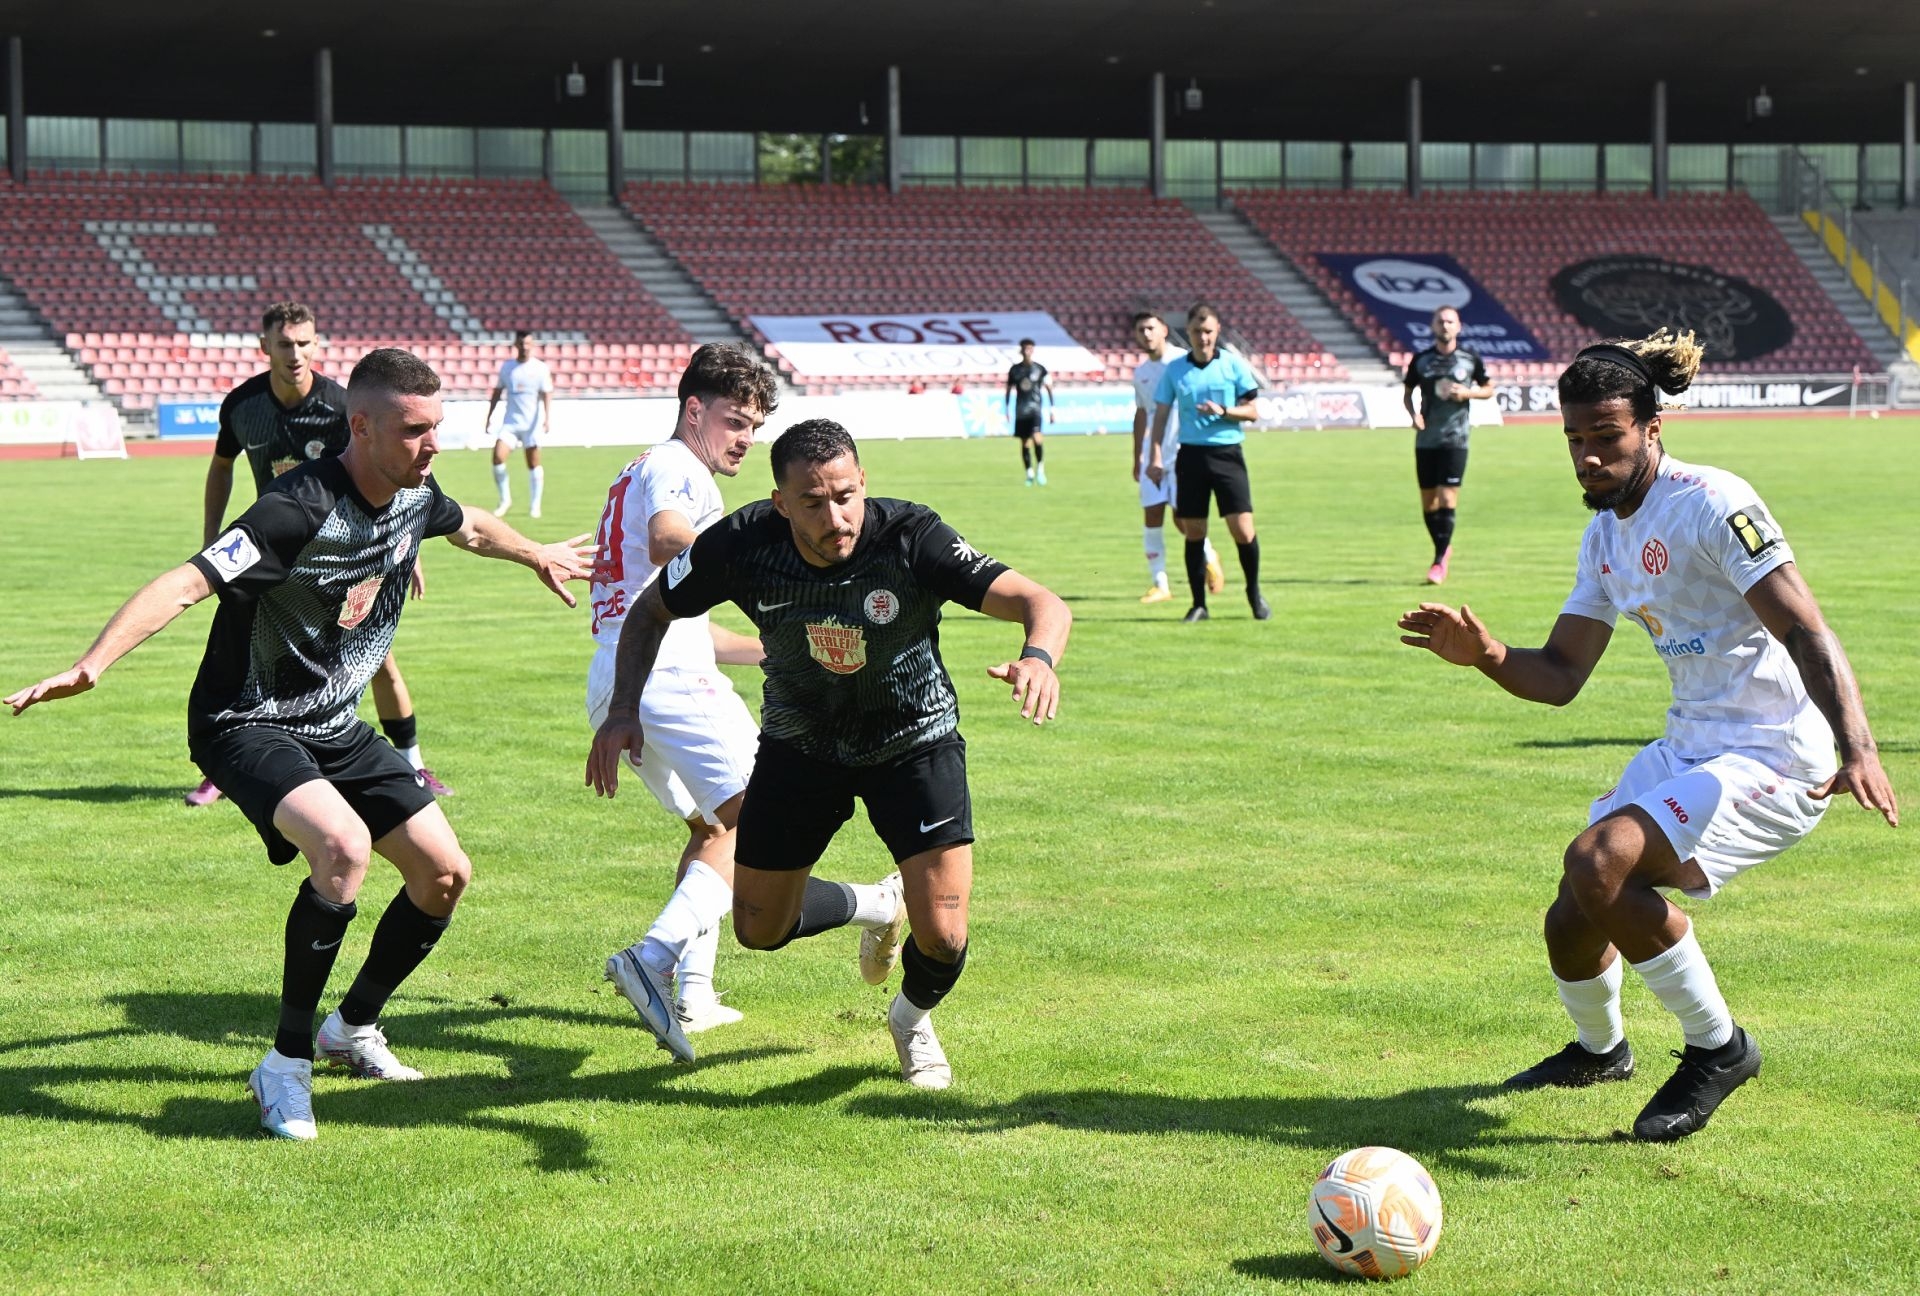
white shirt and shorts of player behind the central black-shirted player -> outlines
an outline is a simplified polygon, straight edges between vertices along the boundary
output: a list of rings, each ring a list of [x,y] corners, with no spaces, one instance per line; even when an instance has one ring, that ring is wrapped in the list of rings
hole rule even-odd
[[[588,722],[597,730],[612,699],[614,649],[620,626],[639,591],[660,574],[647,553],[647,522],[672,509],[703,532],[726,513],[712,470],[685,442],[670,440],[626,465],[607,492],[597,541],[612,570],[593,582],[593,639],[588,668]],[[712,818],[747,789],[760,730],[747,705],[714,662],[707,616],[687,616],[666,628],[660,657],[639,695],[639,780],[682,820]],[[628,756],[632,764],[632,756]]]

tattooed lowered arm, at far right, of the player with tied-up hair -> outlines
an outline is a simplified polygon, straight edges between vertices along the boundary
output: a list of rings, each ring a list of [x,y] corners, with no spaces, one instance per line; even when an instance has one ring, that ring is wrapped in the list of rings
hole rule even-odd
[[[1820,605],[1799,568],[1782,563],[1761,576],[1747,589],[1747,605],[1766,626],[1766,634],[1786,645],[1807,685],[1807,697],[1834,726],[1834,739],[1839,743],[1839,770],[1809,795],[1826,801],[1836,791],[1849,791],[1862,806],[1880,810],[1887,824],[1899,828],[1901,806],[1893,799],[1893,781],[1880,766],[1880,745],[1866,724],[1866,703],[1860,701],[1853,662],[1847,660],[1847,649],[1839,647],[1839,636],[1820,616]]]

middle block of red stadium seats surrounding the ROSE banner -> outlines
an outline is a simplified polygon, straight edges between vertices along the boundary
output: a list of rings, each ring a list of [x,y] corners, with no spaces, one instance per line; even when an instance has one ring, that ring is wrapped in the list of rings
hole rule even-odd
[[[624,202],[760,342],[751,315],[1048,311],[1104,363],[1060,378],[1123,380],[1133,311],[1204,298],[1269,378],[1346,376],[1185,205],[1137,190],[630,184]]]

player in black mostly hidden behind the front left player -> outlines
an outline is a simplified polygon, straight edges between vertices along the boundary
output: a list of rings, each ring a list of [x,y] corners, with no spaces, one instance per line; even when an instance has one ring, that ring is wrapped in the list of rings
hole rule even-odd
[[[319,349],[315,328],[313,307],[301,301],[276,301],[261,317],[259,349],[267,355],[267,372],[253,374],[221,401],[221,432],[207,465],[202,545],[211,545],[221,534],[234,490],[234,459],[242,453],[253,468],[255,493],[265,495],[288,468],[348,447],[348,390],[326,374],[313,372],[313,353]],[[426,593],[426,574],[419,563],[411,582],[413,597]],[[372,708],[388,741],[434,795],[453,795],[420,758],[419,716],[413,714],[413,695],[407,693],[392,653],[372,678]],[[186,804],[211,804],[219,795],[213,780],[205,780],[186,793]]]

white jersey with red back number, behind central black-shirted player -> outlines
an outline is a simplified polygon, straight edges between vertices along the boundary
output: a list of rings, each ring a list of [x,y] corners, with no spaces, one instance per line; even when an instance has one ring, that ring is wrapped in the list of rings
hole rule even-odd
[[[647,553],[647,522],[662,509],[685,516],[695,534],[726,513],[712,470],[678,438],[660,442],[620,468],[607,490],[597,541],[611,559],[611,570],[593,582],[593,641],[605,649],[620,645],[626,611],[660,574]],[[666,628],[655,670],[714,668],[714,643],[705,612]]]

